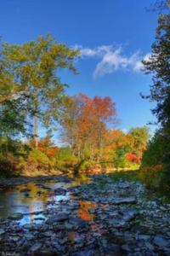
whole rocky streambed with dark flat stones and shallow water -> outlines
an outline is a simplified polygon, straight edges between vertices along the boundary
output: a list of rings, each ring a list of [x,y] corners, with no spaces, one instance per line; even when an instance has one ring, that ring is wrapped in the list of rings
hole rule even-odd
[[[170,255],[170,204],[141,183],[94,175],[1,184],[0,255]]]

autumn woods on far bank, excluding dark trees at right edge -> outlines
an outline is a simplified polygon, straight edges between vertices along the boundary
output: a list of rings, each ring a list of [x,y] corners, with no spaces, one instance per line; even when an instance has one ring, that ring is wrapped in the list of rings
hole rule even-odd
[[[116,128],[116,103],[110,96],[68,96],[68,85],[56,76],[61,68],[77,73],[78,55],[49,35],[22,45],[2,44],[1,175],[139,168],[149,129],[124,133]],[[40,125],[46,137],[39,136]],[[53,141],[56,132],[62,147]]]

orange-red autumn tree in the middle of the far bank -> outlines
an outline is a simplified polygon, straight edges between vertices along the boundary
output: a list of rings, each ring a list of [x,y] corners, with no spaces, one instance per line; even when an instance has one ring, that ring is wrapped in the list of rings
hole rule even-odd
[[[116,106],[110,97],[89,98],[84,94],[71,97],[63,119],[63,138],[73,154],[100,160],[105,146],[107,125],[116,123]]]

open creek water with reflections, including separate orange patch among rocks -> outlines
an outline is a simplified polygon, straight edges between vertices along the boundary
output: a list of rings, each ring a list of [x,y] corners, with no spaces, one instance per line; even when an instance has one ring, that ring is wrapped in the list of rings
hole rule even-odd
[[[89,183],[89,178],[77,177],[70,183],[57,180],[49,180],[45,183],[30,182],[4,189],[0,191],[0,218],[11,218],[16,213],[21,213],[22,218],[16,220],[21,225],[42,224],[46,219],[44,212],[49,207],[59,207],[60,202],[71,201],[72,196],[68,188],[81,183]],[[79,203],[81,207],[77,214],[87,220],[90,219],[88,209],[93,207],[91,202]]]

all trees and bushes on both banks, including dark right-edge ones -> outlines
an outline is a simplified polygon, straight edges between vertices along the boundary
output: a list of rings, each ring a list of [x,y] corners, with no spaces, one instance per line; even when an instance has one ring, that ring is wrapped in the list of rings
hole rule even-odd
[[[67,95],[57,76],[68,68],[77,74],[78,49],[50,35],[25,44],[2,43],[0,55],[0,170],[2,176],[61,172],[140,169],[152,189],[169,189],[169,15],[161,15],[156,42],[144,72],[151,73],[152,112],[158,129],[133,127],[126,133],[110,96]],[[46,129],[40,137],[38,127]],[[57,134],[60,146],[53,136]],[[150,139],[149,139],[150,138]],[[62,146],[61,146],[62,145]]]

